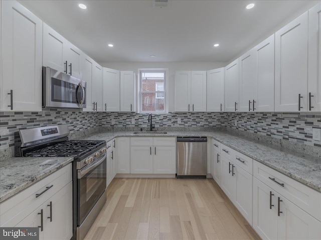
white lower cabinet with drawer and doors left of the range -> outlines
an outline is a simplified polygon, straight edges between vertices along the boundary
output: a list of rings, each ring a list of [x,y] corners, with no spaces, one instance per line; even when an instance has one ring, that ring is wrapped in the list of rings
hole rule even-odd
[[[39,227],[39,239],[71,239],[71,163],[2,202],[0,213],[2,227]]]

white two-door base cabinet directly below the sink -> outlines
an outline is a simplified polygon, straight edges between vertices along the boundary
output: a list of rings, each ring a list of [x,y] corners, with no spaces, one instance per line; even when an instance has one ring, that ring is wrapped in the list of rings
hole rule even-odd
[[[175,174],[175,137],[131,137],[130,173]]]

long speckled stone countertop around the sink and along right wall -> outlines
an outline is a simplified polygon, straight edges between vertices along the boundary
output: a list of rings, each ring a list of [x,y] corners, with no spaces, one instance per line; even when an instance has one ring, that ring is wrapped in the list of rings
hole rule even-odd
[[[133,131],[106,131],[81,137],[109,141],[116,136],[208,136],[321,192],[321,159],[274,145],[257,143],[246,137],[221,131],[168,131],[167,134],[133,134]]]

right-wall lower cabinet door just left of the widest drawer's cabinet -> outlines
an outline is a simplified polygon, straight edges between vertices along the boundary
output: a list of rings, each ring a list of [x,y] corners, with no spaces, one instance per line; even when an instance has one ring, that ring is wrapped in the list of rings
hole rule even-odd
[[[252,182],[253,176],[239,166],[234,165],[235,172],[235,206],[252,225]]]

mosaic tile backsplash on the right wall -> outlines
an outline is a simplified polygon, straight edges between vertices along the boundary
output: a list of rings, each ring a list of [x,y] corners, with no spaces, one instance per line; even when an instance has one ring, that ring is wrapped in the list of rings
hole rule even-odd
[[[263,134],[321,147],[312,139],[312,128],[321,128],[321,112],[228,112],[227,130]]]

